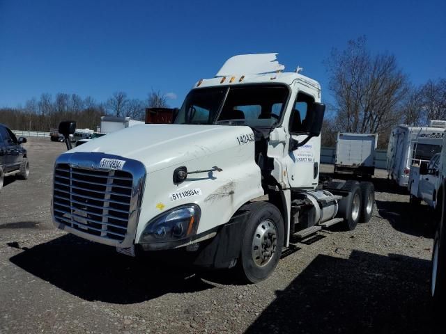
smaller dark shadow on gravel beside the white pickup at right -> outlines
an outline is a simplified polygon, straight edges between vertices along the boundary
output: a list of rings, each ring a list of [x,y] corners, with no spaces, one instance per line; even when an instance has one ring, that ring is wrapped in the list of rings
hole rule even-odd
[[[435,221],[427,205],[411,206],[408,202],[375,200],[379,215],[399,231],[417,237],[433,238]]]

